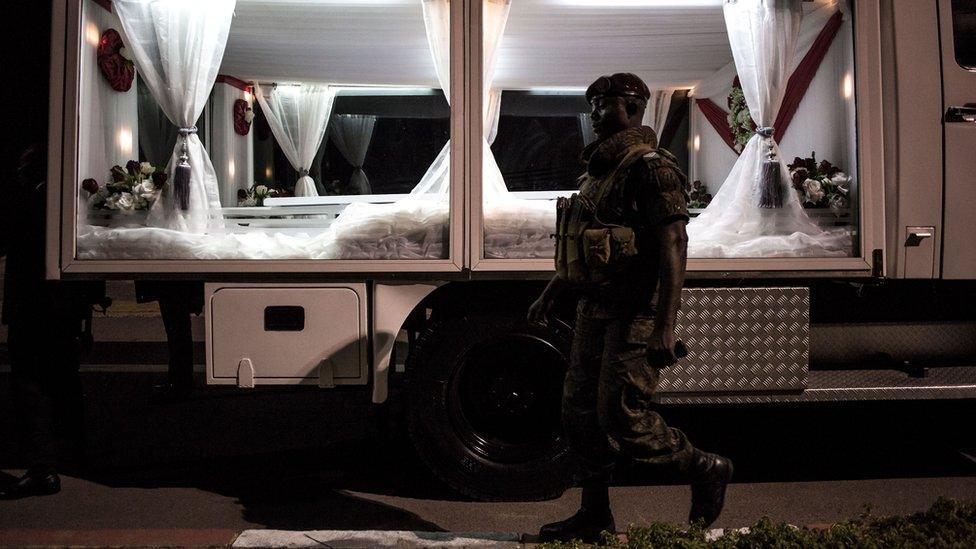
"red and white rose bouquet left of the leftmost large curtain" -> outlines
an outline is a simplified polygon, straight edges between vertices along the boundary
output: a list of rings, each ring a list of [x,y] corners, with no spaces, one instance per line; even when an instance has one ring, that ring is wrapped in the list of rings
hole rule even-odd
[[[88,178],[81,188],[88,193],[88,207],[92,210],[132,214],[152,207],[166,184],[167,175],[149,162],[130,160],[122,166],[112,166],[111,180],[105,185]]]

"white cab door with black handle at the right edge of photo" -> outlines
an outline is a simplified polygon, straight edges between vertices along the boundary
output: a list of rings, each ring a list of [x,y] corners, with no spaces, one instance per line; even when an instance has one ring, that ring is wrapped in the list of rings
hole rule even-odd
[[[976,0],[940,0],[945,208],[942,275],[976,279]]]

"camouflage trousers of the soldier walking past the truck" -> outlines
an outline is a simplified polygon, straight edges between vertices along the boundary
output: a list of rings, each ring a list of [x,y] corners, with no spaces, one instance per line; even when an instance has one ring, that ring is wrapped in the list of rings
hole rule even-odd
[[[577,307],[562,422],[582,483],[607,482],[618,461],[683,476],[691,460],[685,434],[654,411],[660,368],[645,361],[649,334],[634,326],[634,315],[607,314],[585,298]]]

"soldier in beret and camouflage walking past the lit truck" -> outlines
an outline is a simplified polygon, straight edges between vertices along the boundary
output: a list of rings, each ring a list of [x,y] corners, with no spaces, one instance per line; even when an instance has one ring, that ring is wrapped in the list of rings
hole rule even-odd
[[[640,123],[649,98],[630,73],[601,76],[586,90],[598,139],[583,150],[580,192],[557,204],[556,276],[528,313],[544,323],[560,295],[580,295],[562,416],[582,502],[543,526],[542,541],[592,542],[614,531],[608,487],[619,458],[690,483],[689,521],[706,526],[732,476],[730,460],[694,448],[649,407],[660,368],[677,361],[688,240],[685,175]]]

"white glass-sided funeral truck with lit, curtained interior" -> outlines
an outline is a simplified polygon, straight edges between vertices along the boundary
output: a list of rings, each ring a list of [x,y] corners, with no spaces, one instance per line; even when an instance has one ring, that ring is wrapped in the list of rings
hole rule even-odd
[[[209,384],[358,386],[471,496],[569,482],[525,312],[602,74],[689,174],[662,402],[976,396],[972,0],[54,6],[49,277],[205,282]]]

